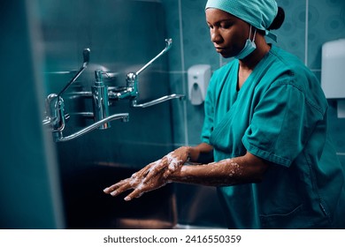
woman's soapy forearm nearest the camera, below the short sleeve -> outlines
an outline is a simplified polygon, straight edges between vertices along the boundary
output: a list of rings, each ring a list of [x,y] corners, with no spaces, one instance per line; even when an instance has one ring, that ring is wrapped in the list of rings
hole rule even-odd
[[[205,165],[185,165],[169,176],[171,182],[210,186],[258,183],[268,165],[252,154]]]

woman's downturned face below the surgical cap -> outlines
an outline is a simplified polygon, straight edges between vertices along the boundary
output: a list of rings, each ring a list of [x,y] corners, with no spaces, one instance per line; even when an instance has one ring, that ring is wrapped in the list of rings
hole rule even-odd
[[[226,11],[211,8],[206,10],[206,22],[211,41],[221,56],[227,58],[240,53],[249,38],[248,23]]]

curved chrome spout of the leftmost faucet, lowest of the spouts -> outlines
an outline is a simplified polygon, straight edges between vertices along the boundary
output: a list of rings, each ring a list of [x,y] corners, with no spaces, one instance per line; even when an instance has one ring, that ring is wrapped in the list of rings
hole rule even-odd
[[[110,122],[113,120],[117,120],[117,119],[122,119],[123,122],[128,122],[129,121],[128,113],[119,113],[119,114],[114,114],[114,115],[105,117],[102,120],[100,120],[96,123],[93,123],[93,124],[89,125],[88,127],[84,128],[80,131],[77,131],[77,132],[75,132],[72,135],[69,135],[67,137],[62,137],[62,132],[60,132],[61,135],[59,137],[56,137],[54,139],[54,141],[55,142],[65,142],[65,141],[72,140],[74,138],[79,138],[80,136],[97,129],[98,127],[102,126],[104,123],[107,123],[107,122]]]

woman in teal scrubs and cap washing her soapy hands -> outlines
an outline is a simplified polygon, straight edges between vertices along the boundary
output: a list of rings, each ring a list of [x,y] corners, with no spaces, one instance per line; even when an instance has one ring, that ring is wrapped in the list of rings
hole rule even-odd
[[[217,187],[228,228],[345,228],[325,95],[298,58],[265,41],[284,11],[274,0],[209,0],[205,13],[215,49],[234,60],[211,77],[202,143],[104,192],[133,190],[131,200],[166,183],[203,184]]]

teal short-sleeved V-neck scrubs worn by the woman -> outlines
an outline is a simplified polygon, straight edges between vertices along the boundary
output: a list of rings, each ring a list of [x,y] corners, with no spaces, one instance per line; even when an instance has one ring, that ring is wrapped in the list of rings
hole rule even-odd
[[[327,134],[327,101],[297,57],[272,46],[240,91],[239,61],[212,75],[202,140],[214,160],[247,151],[263,182],[218,188],[229,228],[345,228],[344,172]]]

